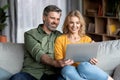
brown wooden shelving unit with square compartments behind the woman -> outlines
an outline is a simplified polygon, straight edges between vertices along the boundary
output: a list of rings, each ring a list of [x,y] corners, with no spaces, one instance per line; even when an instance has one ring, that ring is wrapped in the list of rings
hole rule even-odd
[[[86,33],[95,41],[120,39],[119,0],[82,0]]]

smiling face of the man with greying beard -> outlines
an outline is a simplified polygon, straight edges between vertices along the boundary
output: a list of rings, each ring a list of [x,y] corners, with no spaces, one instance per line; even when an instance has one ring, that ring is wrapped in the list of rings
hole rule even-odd
[[[48,16],[43,16],[44,24],[49,31],[56,30],[60,22],[61,13],[49,12]]]

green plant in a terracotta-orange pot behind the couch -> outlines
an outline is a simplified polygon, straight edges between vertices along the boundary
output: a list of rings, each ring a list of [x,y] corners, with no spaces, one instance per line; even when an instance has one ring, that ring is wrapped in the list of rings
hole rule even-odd
[[[0,42],[6,42],[7,38],[6,36],[2,35],[2,30],[5,28],[5,26],[7,25],[5,23],[6,18],[8,17],[6,15],[5,10],[8,8],[8,5],[5,5],[3,7],[0,7]]]

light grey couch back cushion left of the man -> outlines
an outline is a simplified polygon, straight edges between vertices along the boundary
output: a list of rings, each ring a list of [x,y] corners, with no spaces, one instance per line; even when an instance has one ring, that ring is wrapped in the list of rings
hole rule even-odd
[[[0,43],[0,67],[9,73],[19,72],[23,65],[23,44]]]

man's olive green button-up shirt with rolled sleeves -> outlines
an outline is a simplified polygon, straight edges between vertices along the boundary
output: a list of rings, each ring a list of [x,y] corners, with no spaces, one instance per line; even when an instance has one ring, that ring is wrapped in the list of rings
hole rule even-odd
[[[61,35],[59,31],[54,31],[51,34],[45,33],[42,25],[25,32],[25,57],[22,71],[30,73],[38,80],[44,73],[56,73],[54,67],[42,64],[40,57],[43,54],[48,54],[54,58],[54,41],[59,35]]]

